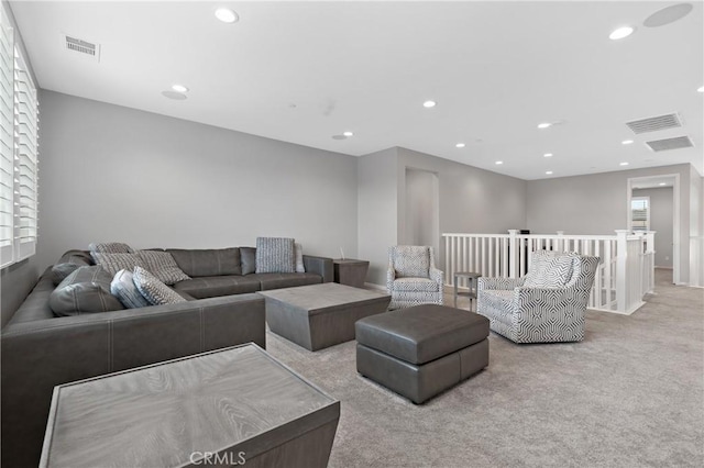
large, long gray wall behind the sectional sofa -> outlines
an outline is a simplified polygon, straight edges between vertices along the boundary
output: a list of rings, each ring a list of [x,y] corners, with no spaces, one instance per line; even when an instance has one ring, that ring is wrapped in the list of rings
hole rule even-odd
[[[356,158],[43,91],[40,266],[90,242],[356,255]]]

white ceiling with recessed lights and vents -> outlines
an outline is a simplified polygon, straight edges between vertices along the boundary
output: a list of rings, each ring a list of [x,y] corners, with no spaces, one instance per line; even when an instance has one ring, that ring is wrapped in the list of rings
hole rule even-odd
[[[674,3],[11,7],[44,89],[349,155],[403,146],[540,179],[681,163],[704,174],[703,3],[675,23],[642,25]],[[223,4],[238,23],[216,20]],[[637,30],[608,40],[623,24]],[[99,43],[100,63],[65,51],[62,34]],[[162,96],[175,82],[190,88],[187,100]],[[427,99],[438,105],[425,109]],[[683,127],[634,135],[625,125],[671,112]],[[537,130],[544,121],[564,123]],[[343,131],[354,136],[332,138]],[[644,143],[685,134],[694,148]]]

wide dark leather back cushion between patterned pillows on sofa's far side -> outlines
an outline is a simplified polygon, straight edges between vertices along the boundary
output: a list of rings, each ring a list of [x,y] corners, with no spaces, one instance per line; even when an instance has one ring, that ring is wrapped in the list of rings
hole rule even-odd
[[[242,275],[240,249],[237,247],[209,249],[168,248],[166,252],[174,256],[178,267],[189,277]]]

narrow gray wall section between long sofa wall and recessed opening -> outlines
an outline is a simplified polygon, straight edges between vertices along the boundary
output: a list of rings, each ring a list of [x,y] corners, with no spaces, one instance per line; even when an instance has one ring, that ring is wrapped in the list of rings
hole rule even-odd
[[[370,260],[366,280],[375,285],[386,285],[388,247],[398,243],[397,159],[397,148],[358,159],[359,258]]]

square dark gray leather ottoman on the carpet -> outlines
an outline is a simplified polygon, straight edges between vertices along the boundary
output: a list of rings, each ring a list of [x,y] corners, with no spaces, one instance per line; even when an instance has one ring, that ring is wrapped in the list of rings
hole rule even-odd
[[[417,305],[356,322],[356,370],[419,404],[488,366],[488,320]]]

